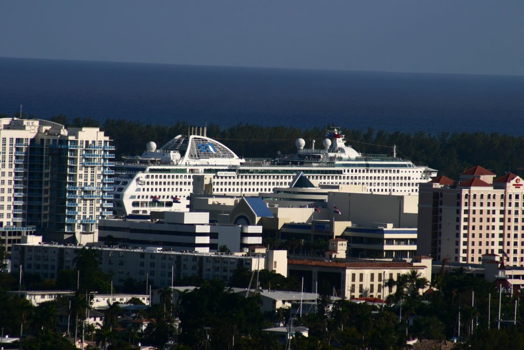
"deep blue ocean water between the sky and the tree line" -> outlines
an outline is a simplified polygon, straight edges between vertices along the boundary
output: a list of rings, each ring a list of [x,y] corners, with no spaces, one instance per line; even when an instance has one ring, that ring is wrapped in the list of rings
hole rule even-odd
[[[0,58],[0,113],[521,135],[524,77]]]

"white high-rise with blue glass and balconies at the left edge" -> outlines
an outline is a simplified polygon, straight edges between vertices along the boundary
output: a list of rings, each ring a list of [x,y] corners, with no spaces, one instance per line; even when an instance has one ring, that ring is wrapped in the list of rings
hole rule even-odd
[[[35,229],[46,239],[86,243],[112,214],[114,146],[99,128],[0,119],[0,237],[8,249]]]

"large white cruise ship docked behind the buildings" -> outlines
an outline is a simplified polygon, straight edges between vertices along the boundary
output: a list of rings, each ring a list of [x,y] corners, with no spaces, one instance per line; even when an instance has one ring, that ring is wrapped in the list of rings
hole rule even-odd
[[[436,170],[395,156],[362,155],[344,143],[339,128],[326,130],[322,149],[304,149],[276,160],[239,158],[222,143],[191,128],[157,149],[148,142],[141,156],[124,157],[115,165],[115,215],[147,215],[150,210],[189,210],[193,178],[208,175],[211,194],[257,196],[284,187],[299,172],[318,184],[358,185],[376,194],[414,194]],[[202,177],[199,177],[202,181]],[[209,192],[208,192],[209,193]]]

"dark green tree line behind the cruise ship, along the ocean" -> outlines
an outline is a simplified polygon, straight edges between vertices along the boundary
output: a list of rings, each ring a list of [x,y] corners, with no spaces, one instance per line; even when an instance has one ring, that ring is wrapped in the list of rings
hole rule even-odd
[[[0,114],[6,117],[6,114]],[[35,116],[30,116],[35,118]],[[74,118],[65,115],[53,116],[52,121],[66,126],[100,126],[114,140],[117,156],[140,154],[145,144],[155,141],[160,147],[172,137],[186,134],[190,123],[185,121],[173,125],[143,124],[124,119],[107,119],[100,124],[91,118]],[[524,175],[524,136],[509,136],[498,133],[401,133],[384,130],[343,129],[347,143],[363,154],[392,155],[392,146],[397,146],[397,156],[416,164],[439,169],[441,175],[456,178],[464,169],[482,165],[497,175],[509,170]],[[223,142],[236,154],[244,157],[275,158],[296,151],[294,140],[302,137],[306,147],[316,140],[321,147],[322,128],[301,129],[284,126],[260,126],[239,123],[229,128],[219,124],[208,125],[208,136]]]

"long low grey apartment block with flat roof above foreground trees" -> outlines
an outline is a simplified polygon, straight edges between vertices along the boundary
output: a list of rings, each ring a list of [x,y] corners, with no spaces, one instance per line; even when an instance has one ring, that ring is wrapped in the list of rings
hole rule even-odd
[[[20,243],[13,246],[13,271],[39,274],[42,278],[57,278],[61,269],[73,269],[74,258],[83,247],[49,243]],[[157,287],[171,285],[172,279],[199,277],[205,280],[228,281],[233,272],[243,267],[278,270],[285,266],[285,252],[249,253],[199,253],[191,251],[162,250],[161,248],[93,247],[100,251],[100,269],[113,277],[115,284],[126,278],[152,280]],[[279,252],[279,251],[269,251]]]

